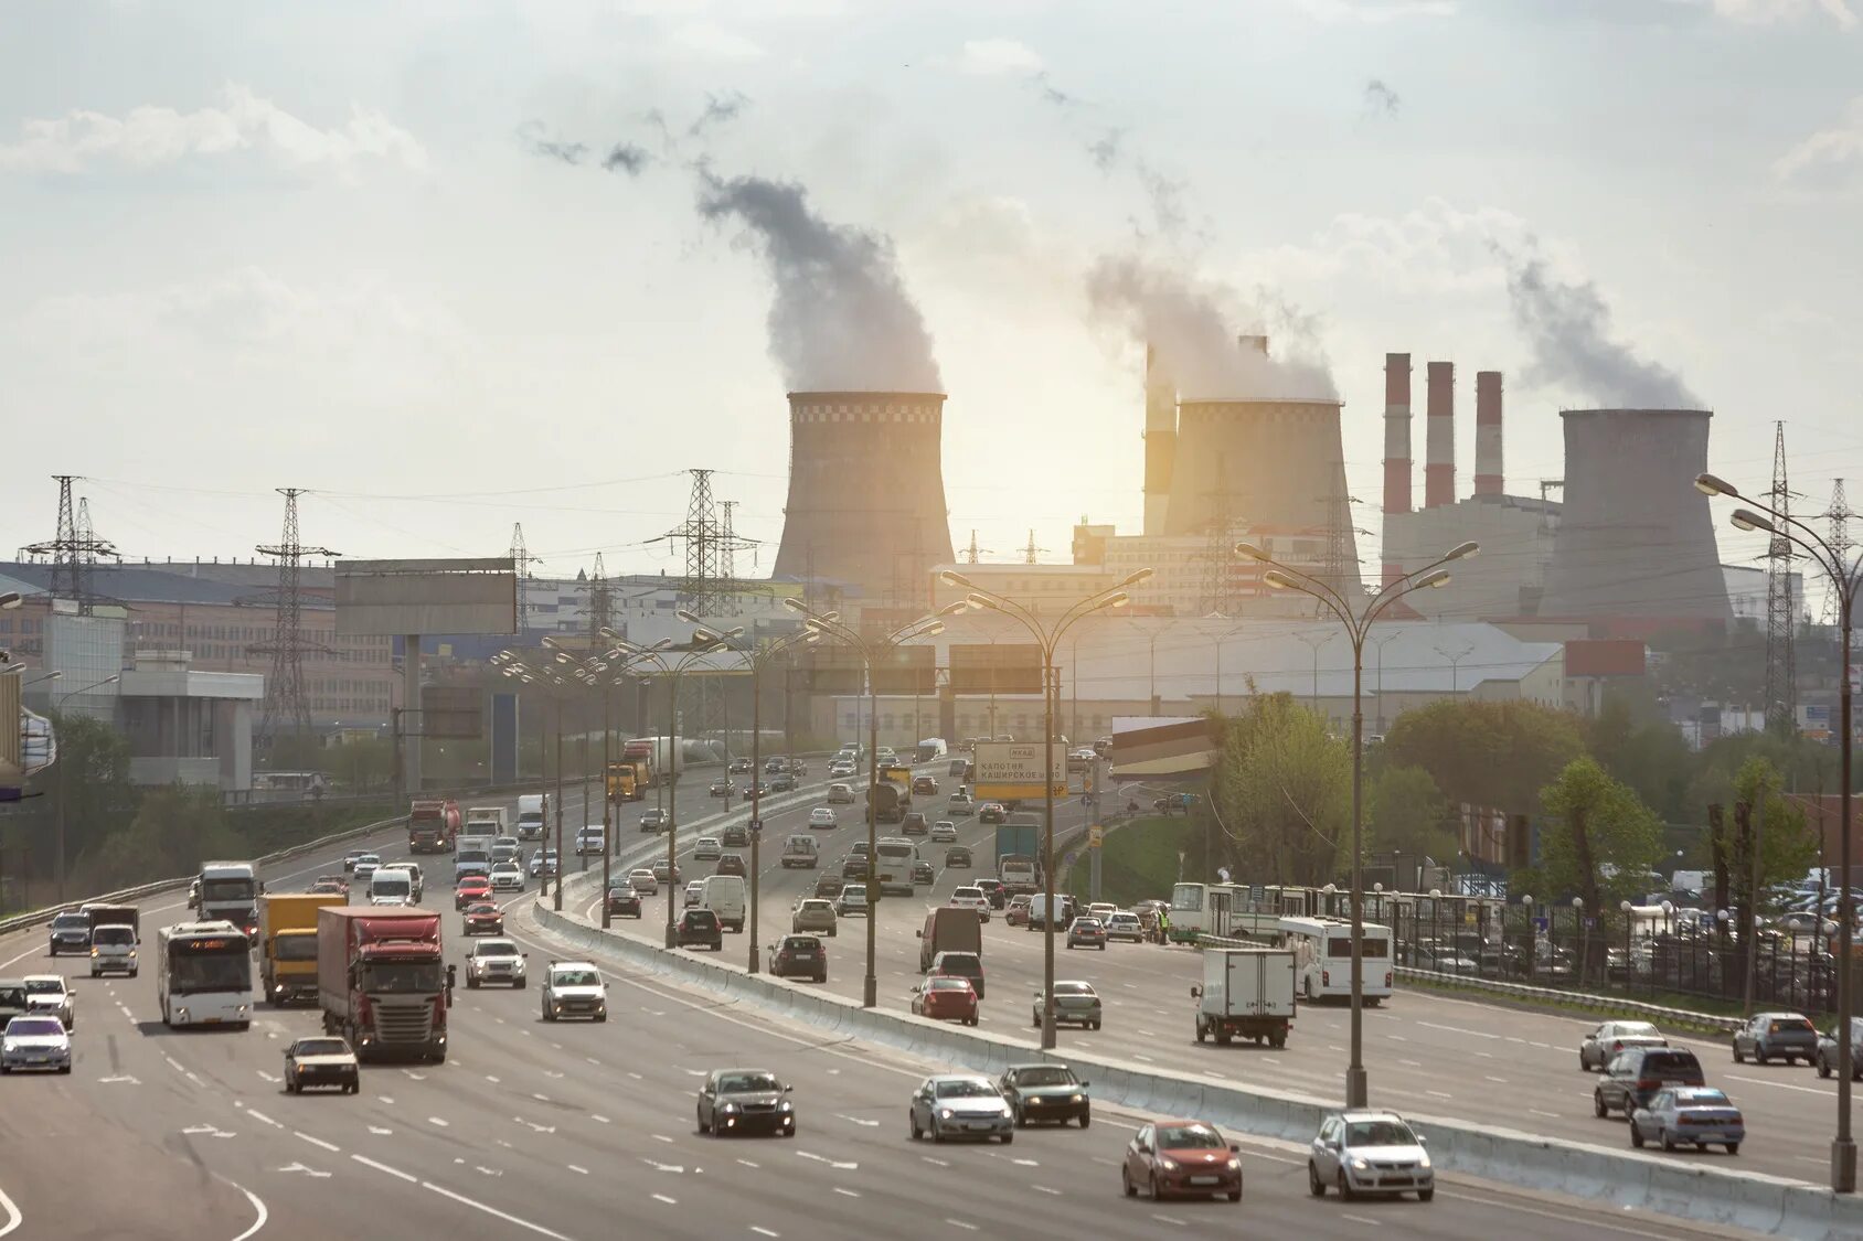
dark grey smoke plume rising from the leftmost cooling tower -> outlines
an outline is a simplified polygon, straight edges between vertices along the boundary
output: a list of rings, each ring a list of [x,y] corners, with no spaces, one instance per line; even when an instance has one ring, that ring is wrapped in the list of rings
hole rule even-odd
[[[769,265],[769,354],[792,391],[943,391],[891,239],[822,220],[801,184],[700,175],[699,214],[741,222]]]

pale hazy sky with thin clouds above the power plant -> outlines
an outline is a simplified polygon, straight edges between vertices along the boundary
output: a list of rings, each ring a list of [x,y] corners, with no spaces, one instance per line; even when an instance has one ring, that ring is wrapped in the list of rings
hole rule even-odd
[[[1675,402],[1714,410],[1710,466],[1747,490],[1783,419],[1822,511],[1863,486],[1859,19],[0,4],[0,548],[54,535],[73,473],[136,559],[250,557],[292,486],[343,555],[494,555],[522,524],[540,574],[680,572],[704,468],[768,572],[784,391],[898,367],[948,393],[954,544],[1066,559],[1079,518],[1142,512],[1122,272],[1338,391],[1373,535],[1388,350],[1418,496],[1449,360],[1461,494],[1498,369],[1509,492],[1561,477],[1561,408]]]

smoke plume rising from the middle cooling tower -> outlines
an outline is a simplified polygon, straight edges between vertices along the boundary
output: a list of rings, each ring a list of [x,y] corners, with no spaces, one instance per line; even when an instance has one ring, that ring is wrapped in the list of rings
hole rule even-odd
[[[1086,276],[1086,296],[1095,319],[1157,350],[1157,363],[1187,399],[1338,401],[1310,339],[1297,343],[1312,360],[1282,361],[1243,348],[1235,322],[1259,320],[1263,311],[1220,285],[1127,255],[1099,259]],[[1274,311],[1285,328],[1304,328],[1285,307],[1269,307]]]

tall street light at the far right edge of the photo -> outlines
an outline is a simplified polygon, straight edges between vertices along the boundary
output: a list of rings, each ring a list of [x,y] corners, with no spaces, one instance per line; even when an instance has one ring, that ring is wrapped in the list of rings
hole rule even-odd
[[[1857,583],[1863,581],[1863,557],[1852,557],[1848,548],[1839,552],[1818,531],[1792,514],[1781,512],[1753,496],[1742,496],[1733,483],[1718,479],[1712,473],[1697,473],[1695,490],[1708,498],[1727,496],[1729,499],[1744,499],[1753,505],[1751,509],[1734,509],[1734,527],[1764,531],[1772,535],[1774,544],[1781,540],[1794,544],[1824,570],[1831,589],[1837,591],[1837,632],[1843,643],[1843,660],[1837,671],[1839,745],[1843,755],[1837,777],[1837,822],[1841,825],[1837,868],[1843,883],[1837,889],[1837,1137],[1831,1139],[1831,1189],[1841,1194],[1852,1194],[1857,1189],[1857,1146],[1850,1135],[1850,1073],[1854,1071],[1850,1064],[1850,1016],[1856,1004],[1856,993],[1850,986],[1850,948],[1856,926],[1856,902],[1850,896],[1850,617],[1856,607]],[[1753,509],[1759,509],[1772,520]],[[1757,947],[1757,943],[1751,943],[1746,950],[1751,954]]]

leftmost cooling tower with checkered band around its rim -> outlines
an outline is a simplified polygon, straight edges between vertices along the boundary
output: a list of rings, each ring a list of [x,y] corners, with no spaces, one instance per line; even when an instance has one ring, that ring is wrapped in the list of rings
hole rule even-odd
[[[792,391],[779,578],[913,598],[948,565],[943,393]]]

